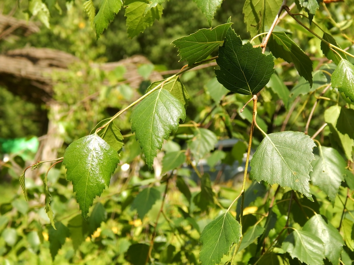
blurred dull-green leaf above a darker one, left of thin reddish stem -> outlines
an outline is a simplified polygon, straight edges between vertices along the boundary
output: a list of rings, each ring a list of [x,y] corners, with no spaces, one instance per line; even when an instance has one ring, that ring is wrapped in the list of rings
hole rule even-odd
[[[155,202],[160,199],[160,192],[155,188],[145,188],[135,197],[132,209],[138,211],[138,216],[143,219],[145,214],[153,207]]]

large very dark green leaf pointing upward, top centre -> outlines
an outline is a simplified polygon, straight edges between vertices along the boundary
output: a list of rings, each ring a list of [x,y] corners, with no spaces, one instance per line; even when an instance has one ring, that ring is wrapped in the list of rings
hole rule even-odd
[[[216,77],[225,88],[232,92],[255,95],[268,82],[274,72],[273,55],[265,55],[262,48],[253,48],[250,42],[242,45],[241,38],[228,29],[224,45],[219,47],[216,59],[220,69]]]

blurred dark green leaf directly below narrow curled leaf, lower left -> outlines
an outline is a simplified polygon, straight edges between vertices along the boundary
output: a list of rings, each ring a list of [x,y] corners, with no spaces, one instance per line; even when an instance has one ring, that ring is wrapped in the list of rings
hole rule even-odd
[[[49,240],[49,249],[52,259],[54,260],[55,256],[58,254],[59,249],[65,243],[65,239],[70,236],[69,229],[63,225],[61,222],[56,223],[55,230],[52,226],[48,229],[48,240]]]

